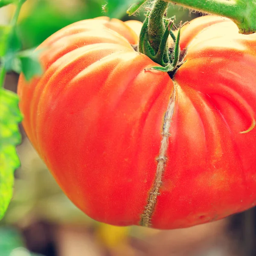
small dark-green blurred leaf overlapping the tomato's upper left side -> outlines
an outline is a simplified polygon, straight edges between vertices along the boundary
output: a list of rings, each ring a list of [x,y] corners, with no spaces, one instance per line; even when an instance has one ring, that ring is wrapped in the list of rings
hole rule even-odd
[[[43,70],[40,62],[38,61],[39,51],[33,49],[19,52],[17,57],[20,59],[20,68],[23,72],[25,79],[29,81],[33,76],[41,75]],[[14,63],[15,64],[15,63]],[[15,66],[13,66],[15,69]],[[16,64],[16,67],[17,64]]]

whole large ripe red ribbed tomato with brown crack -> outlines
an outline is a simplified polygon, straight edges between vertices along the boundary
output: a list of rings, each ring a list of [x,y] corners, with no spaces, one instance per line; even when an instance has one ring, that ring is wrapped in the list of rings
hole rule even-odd
[[[206,16],[182,29],[174,79],[134,50],[140,23],[98,18],[48,38],[18,94],[32,144],[90,217],[161,229],[256,202],[256,35]]]

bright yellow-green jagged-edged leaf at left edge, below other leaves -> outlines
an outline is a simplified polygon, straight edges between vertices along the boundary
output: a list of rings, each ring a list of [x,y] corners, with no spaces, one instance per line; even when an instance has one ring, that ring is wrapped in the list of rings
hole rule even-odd
[[[20,166],[15,148],[21,142],[18,100],[15,93],[0,88],[0,219],[11,201],[14,171]]]

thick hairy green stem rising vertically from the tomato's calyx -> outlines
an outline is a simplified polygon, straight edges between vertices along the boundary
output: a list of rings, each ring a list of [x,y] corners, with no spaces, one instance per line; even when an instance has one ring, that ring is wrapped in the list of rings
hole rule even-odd
[[[148,17],[148,41],[154,52],[157,53],[163,34],[166,31],[164,15],[168,8],[168,3],[163,0],[156,0]],[[166,54],[167,54],[166,46]]]

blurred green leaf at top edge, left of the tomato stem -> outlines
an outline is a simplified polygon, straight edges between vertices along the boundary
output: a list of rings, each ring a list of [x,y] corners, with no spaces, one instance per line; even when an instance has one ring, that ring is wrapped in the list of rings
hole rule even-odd
[[[107,15],[111,18],[120,19],[126,14],[131,3],[134,3],[134,0],[108,0]]]

